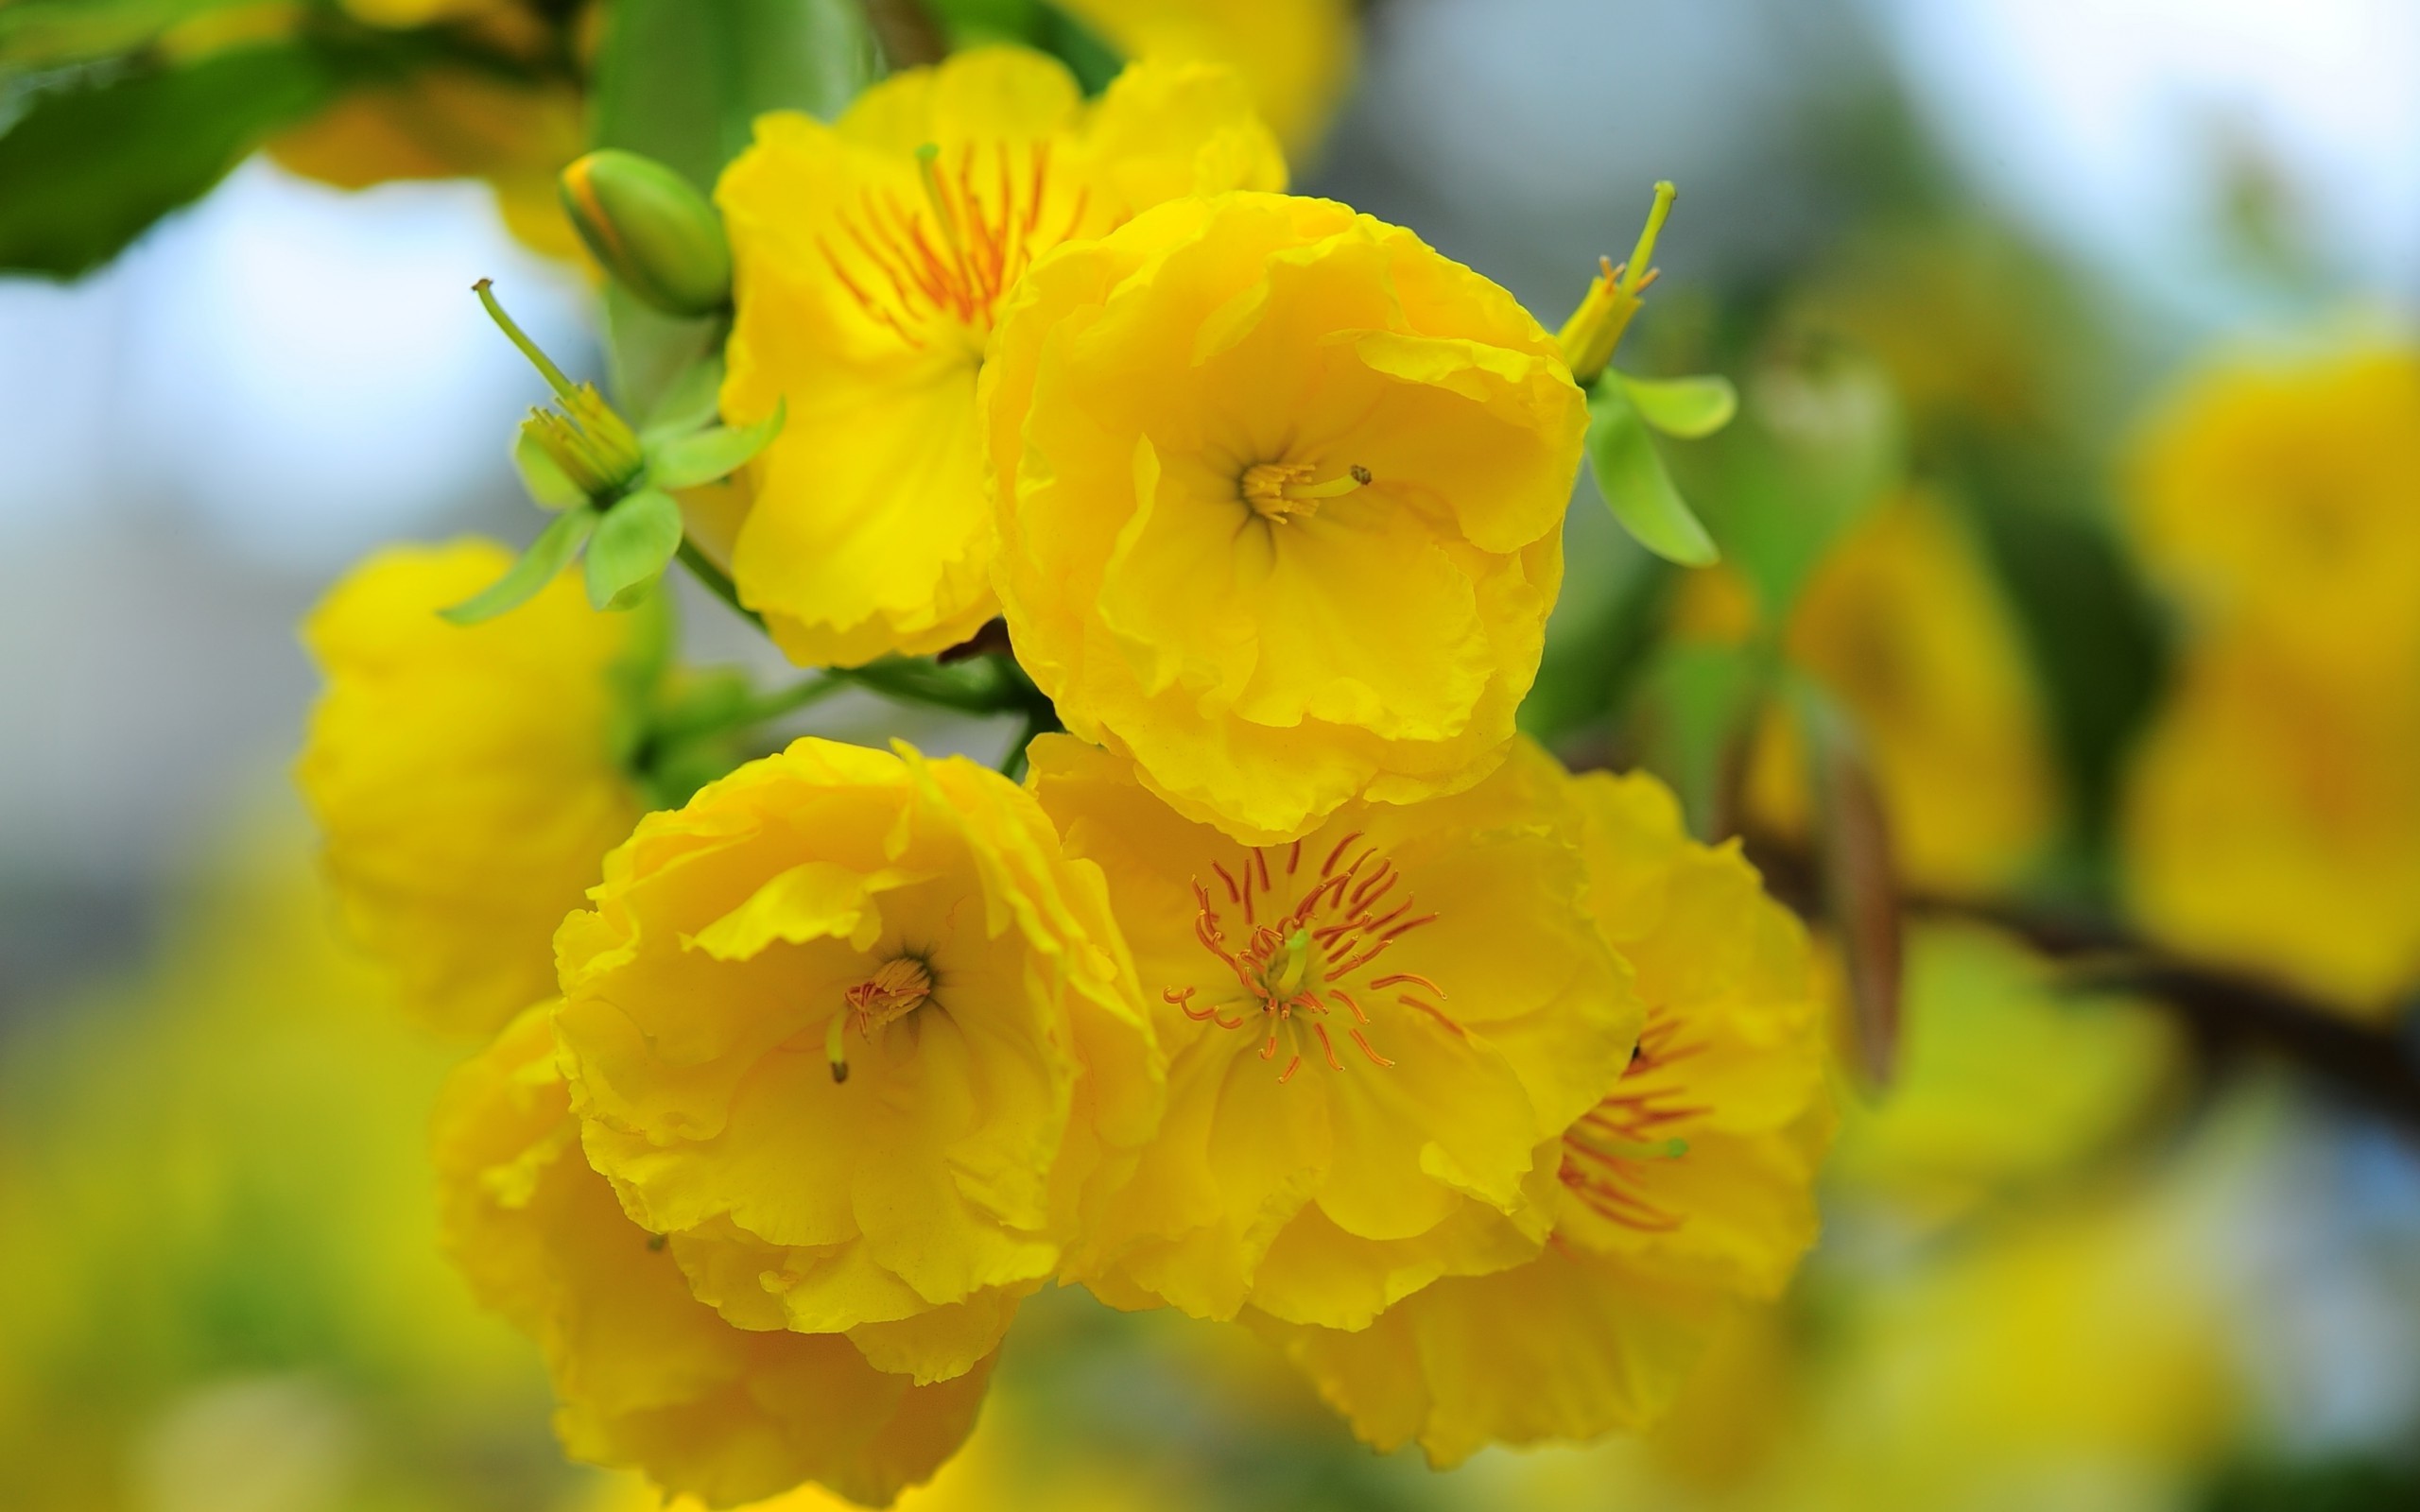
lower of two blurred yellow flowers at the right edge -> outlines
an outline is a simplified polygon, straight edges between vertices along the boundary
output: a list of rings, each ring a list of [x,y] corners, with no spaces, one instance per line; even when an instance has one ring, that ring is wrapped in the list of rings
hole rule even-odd
[[[2193,651],[2134,752],[2125,859],[2161,941],[2391,1014],[2420,982],[2420,663]]]

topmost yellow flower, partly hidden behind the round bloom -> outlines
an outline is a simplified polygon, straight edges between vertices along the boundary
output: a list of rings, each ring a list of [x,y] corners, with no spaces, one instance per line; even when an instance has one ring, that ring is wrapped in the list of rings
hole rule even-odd
[[[1283,186],[1241,85],[1198,65],[1130,68],[1084,104],[1060,63],[975,48],[835,126],[762,116],[716,189],[738,298],[724,414],[789,406],[731,559],[782,648],[857,665],[997,614],[975,370],[1002,300],[1145,206]]]

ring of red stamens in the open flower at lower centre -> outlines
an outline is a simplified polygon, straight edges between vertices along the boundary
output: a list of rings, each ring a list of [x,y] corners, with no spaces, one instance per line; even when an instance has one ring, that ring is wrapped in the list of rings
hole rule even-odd
[[[1227,871],[1222,861],[1212,861],[1210,871],[1227,890],[1227,902],[1244,912],[1246,936],[1241,943],[1227,941],[1210,885],[1193,878],[1193,939],[1234,973],[1239,992],[1200,1006],[1193,1004],[1195,987],[1169,987],[1162,997],[1183,1009],[1186,1018],[1195,1023],[1244,1028],[1258,1021],[1258,1028],[1268,1031],[1261,1060],[1275,1060],[1278,1045],[1290,1040],[1292,1057],[1285,1062],[1278,1081],[1295,1079],[1304,1052],[1314,1043],[1331,1072],[1346,1069],[1336,1055],[1336,1040],[1329,1035],[1326,1021],[1333,1009],[1353,1016],[1353,1023],[1341,1028],[1370,1064],[1394,1064],[1362,1033],[1370,1023],[1370,1011],[1355,992],[1377,994],[1394,989],[1394,1002],[1418,1009],[1462,1033],[1462,1026],[1430,1002],[1430,997],[1442,999],[1445,989],[1428,977],[1416,973],[1365,977],[1367,968],[1394,941],[1423,924],[1435,924],[1437,914],[1416,914],[1408,888],[1396,898],[1404,873],[1375,844],[1360,847],[1360,854],[1348,861],[1348,852],[1360,839],[1358,832],[1338,839],[1314,876],[1302,876],[1304,842],[1300,839],[1285,847],[1283,873],[1270,868],[1266,847],[1251,847],[1237,871]],[[1292,902],[1280,905],[1280,893],[1292,895]],[[1389,900],[1394,900],[1394,907],[1387,907]]]

